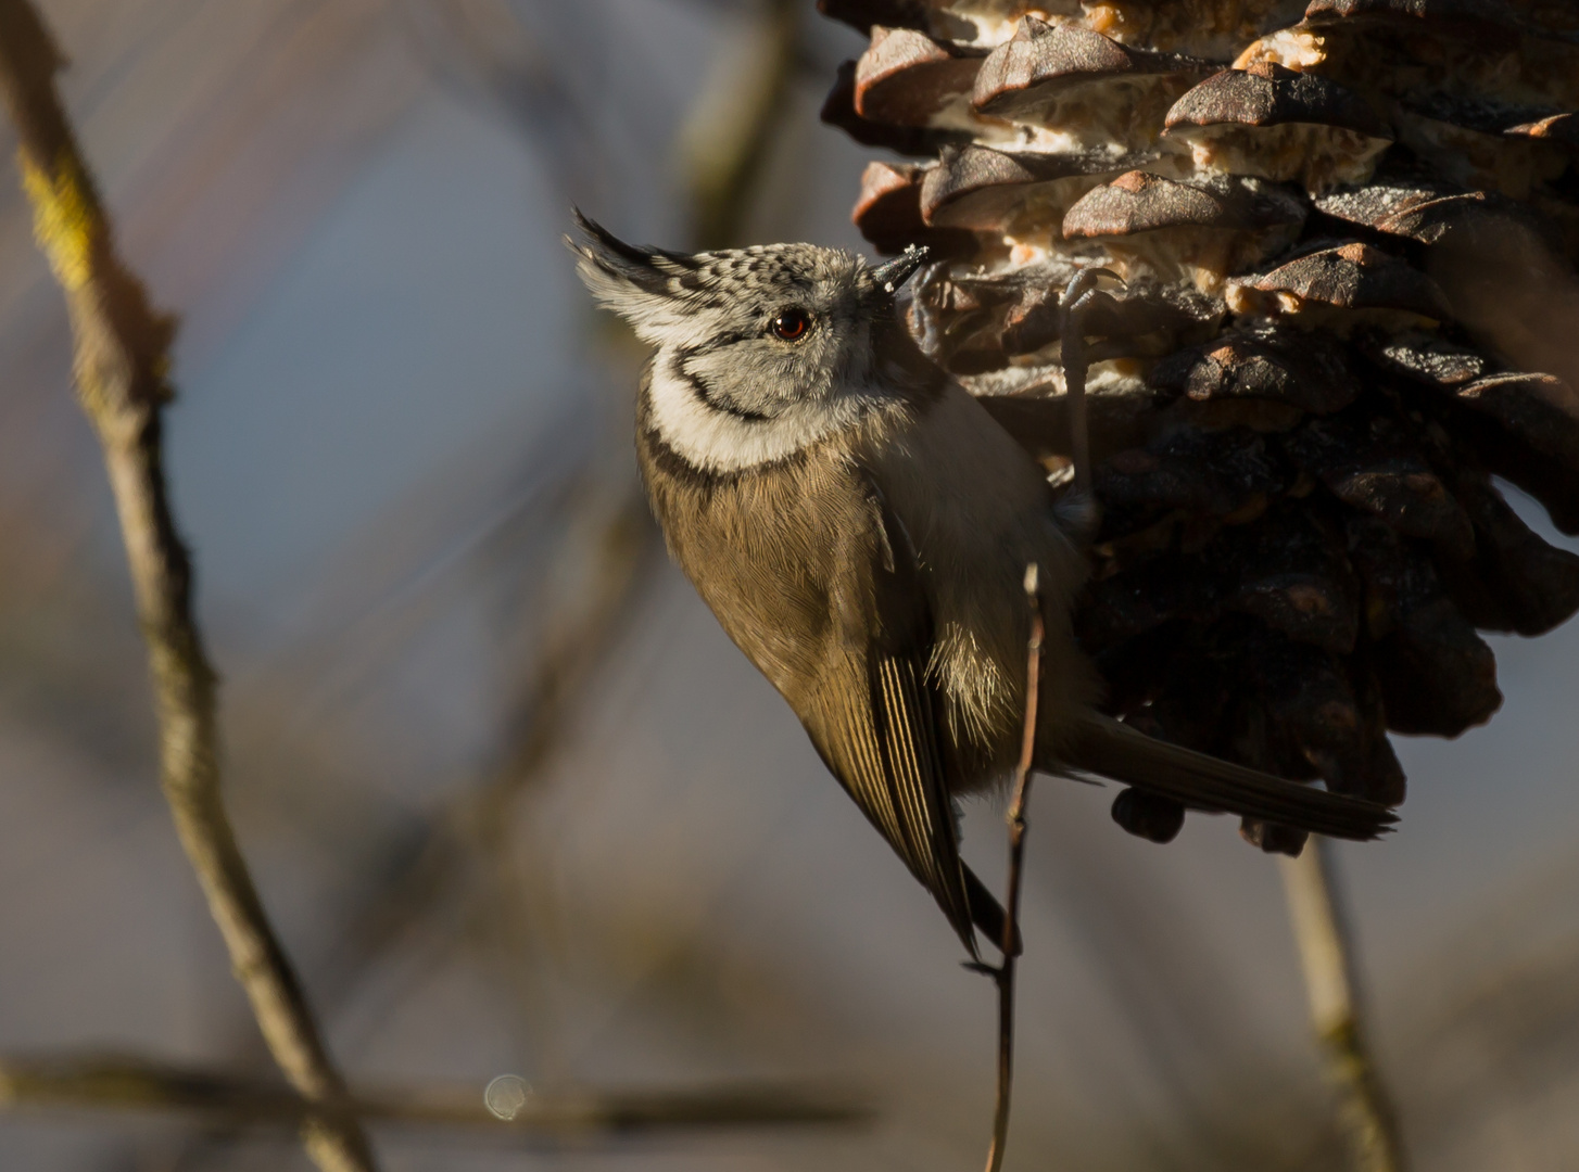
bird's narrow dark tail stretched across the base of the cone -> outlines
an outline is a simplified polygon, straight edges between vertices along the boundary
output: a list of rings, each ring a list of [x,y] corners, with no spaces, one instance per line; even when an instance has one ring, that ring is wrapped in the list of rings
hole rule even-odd
[[[1386,806],[1312,789],[1159,741],[1096,713],[1082,719],[1061,763],[1219,814],[1241,814],[1330,838],[1372,839],[1397,819]]]

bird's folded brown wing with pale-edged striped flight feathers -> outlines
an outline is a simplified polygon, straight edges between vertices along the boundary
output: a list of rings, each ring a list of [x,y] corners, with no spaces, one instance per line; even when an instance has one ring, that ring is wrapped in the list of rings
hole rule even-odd
[[[875,588],[850,615],[843,663],[818,694],[820,719],[807,721],[827,768],[932,893],[971,956],[976,904],[992,902],[960,863],[946,762],[940,751],[938,697],[927,678],[932,621],[916,585],[914,552],[903,527],[873,498],[880,527],[870,573]],[[862,577],[864,574],[853,574]],[[862,592],[864,593],[864,592]],[[851,604],[856,604],[854,599]],[[987,909],[977,909],[977,918]]]

